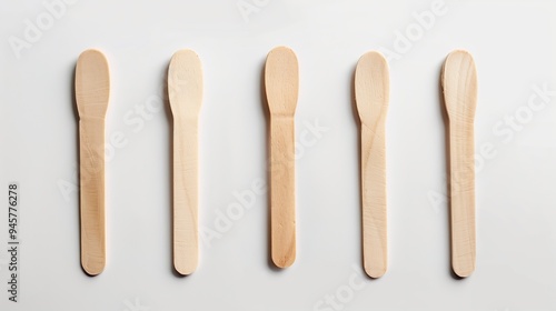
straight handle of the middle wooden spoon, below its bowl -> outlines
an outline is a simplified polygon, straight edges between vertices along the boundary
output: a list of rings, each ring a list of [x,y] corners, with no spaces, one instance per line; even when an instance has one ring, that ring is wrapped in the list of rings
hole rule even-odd
[[[295,123],[292,117],[270,119],[271,257],[279,268],[296,259]]]

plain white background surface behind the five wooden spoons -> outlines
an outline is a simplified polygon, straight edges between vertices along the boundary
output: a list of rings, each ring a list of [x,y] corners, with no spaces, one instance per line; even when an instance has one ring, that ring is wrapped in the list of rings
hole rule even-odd
[[[26,20],[37,24],[48,10],[42,0],[2,0],[0,200],[7,209],[8,183],[19,182],[22,244],[20,302],[9,302],[2,290],[0,309],[556,310],[556,96],[537,111],[527,108],[535,86],[556,90],[556,2],[446,0],[447,12],[430,29],[414,32],[406,50],[395,46],[396,33],[413,29],[414,14],[430,11],[433,0],[256,2],[257,11],[242,16],[237,0],[76,1],[18,58],[10,40],[27,40]],[[170,114],[167,108],[147,111],[149,120],[136,109],[163,97],[175,51],[197,51],[205,74],[200,223],[217,230],[217,212],[237,202],[234,192],[267,179],[260,78],[266,54],[281,44],[299,60],[296,137],[307,123],[327,128],[314,144],[298,143],[297,261],[286,271],[269,263],[264,193],[229,231],[201,243],[197,272],[177,277]],[[88,48],[102,50],[110,62],[107,139],[119,132],[127,142],[111,146],[107,163],[108,263],[96,278],[80,267],[75,191],[72,74]],[[389,269],[371,280],[360,268],[358,124],[350,89],[358,58],[377,49],[398,54],[389,61]],[[478,161],[477,269],[465,280],[450,272],[443,199],[438,86],[440,66],[454,49],[470,51],[477,64],[477,152],[485,143],[495,149]],[[505,118],[516,113],[516,127],[506,126]],[[3,245],[7,231],[4,210]],[[7,263],[1,251],[2,284]],[[364,288],[350,288],[350,279]],[[327,304],[326,295],[336,304]]]

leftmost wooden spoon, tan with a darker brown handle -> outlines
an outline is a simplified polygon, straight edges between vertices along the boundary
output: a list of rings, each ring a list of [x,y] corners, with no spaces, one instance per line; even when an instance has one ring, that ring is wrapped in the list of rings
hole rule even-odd
[[[97,50],[81,53],[76,67],[79,113],[81,265],[90,275],[106,265],[105,118],[110,97],[108,61]]]

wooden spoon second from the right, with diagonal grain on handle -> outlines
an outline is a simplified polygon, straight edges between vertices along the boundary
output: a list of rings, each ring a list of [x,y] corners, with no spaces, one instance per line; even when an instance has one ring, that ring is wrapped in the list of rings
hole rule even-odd
[[[361,120],[363,254],[371,278],[386,273],[387,204],[385,121],[389,101],[389,71],[379,52],[364,54],[356,68],[355,97]]]

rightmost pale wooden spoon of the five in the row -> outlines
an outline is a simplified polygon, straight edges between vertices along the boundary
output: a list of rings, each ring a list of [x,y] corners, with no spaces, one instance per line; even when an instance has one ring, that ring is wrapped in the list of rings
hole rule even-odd
[[[477,72],[473,57],[454,51],[441,73],[449,119],[451,267],[468,277],[475,270],[475,142]]]

